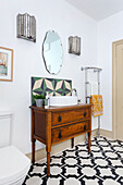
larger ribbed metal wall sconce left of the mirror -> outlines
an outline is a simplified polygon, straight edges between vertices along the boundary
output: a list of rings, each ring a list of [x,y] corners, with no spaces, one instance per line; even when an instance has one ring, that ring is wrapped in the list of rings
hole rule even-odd
[[[36,20],[29,14],[17,14],[17,38],[36,42]]]

